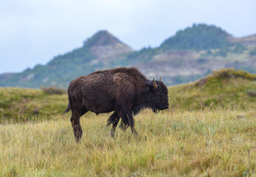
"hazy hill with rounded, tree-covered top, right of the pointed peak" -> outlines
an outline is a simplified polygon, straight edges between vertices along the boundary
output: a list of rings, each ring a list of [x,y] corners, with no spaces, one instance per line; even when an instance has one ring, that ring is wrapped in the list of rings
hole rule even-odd
[[[235,38],[215,26],[194,24],[180,30],[155,49],[136,52],[136,66],[148,77],[168,85],[187,83],[212,70],[235,68],[256,73],[256,35]]]

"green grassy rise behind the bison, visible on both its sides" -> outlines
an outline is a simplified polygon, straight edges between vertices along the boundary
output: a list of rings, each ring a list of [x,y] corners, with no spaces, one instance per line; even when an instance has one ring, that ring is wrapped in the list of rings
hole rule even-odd
[[[62,114],[68,104],[67,94],[50,91],[1,88],[0,122],[52,119]],[[233,69],[214,72],[196,83],[170,87],[169,102],[173,110],[256,108],[256,75]]]

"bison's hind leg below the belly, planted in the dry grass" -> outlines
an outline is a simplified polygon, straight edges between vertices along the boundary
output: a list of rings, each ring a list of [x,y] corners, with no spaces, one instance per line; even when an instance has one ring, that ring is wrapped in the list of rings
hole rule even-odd
[[[72,128],[75,134],[75,139],[77,140],[77,142],[79,142],[79,140],[81,139],[82,135],[83,135],[83,131],[80,125],[80,113],[78,112],[72,112],[72,117],[70,119],[71,123],[72,123]]]

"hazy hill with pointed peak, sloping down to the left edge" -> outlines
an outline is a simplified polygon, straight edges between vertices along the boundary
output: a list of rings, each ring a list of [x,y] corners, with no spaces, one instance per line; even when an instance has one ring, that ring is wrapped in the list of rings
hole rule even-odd
[[[131,47],[109,32],[100,31],[85,41],[82,47],[56,56],[45,66],[38,64],[21,73],[0,75],[0,86],[66,88],[75,77],[107,68],[113,58],[118,61],[120,55],[132,51]]]

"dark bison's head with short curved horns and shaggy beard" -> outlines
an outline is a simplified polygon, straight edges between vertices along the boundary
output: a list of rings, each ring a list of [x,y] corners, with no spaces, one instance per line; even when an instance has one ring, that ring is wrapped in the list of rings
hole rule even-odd
[[[161,78],[160,78],[161,80]],[[152,80],[147,83],[148,106],[154,112],[169,108],[168,90],[165,83]]]

